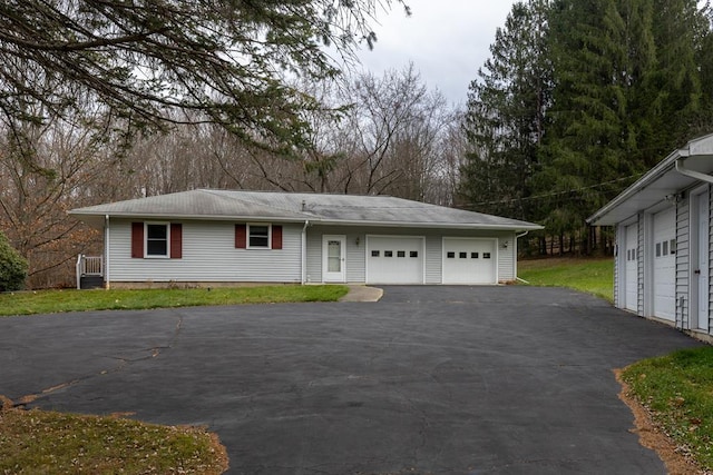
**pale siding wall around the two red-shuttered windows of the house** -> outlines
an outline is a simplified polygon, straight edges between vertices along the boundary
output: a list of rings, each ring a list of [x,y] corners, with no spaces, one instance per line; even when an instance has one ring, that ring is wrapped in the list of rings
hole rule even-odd
[[[116,283],[300,283],[300,225],[283,226],[282,249],[236,249],[235,222],[183,224],[180,259],[131,258],[131,221],[110,220],[109,279]]]

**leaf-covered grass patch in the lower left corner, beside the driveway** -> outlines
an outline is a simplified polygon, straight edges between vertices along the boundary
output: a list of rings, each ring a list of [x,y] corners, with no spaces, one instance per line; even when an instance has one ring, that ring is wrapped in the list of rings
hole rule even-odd
[[[0,474],[204,475],[226,468],[225,447],[202,428],[0,409]]]

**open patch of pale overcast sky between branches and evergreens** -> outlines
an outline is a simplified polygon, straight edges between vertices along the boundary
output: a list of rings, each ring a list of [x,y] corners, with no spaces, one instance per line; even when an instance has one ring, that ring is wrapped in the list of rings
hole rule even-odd
[[[373,51],[360,53],[362,67],[377,75],[412,61],[427,86],[451,103],[465,103],[468,85],[489,57],[495,31],[515,0],[407,0],[412,14],[394,4],[379,16]]]

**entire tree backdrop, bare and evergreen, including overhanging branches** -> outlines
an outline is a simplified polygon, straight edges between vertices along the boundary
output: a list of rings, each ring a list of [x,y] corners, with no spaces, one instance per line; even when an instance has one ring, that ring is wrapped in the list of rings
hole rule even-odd
[[[101,253],[67,210],[193,188],[388,194],[540,222],[530,254],[589,253],[612,237],[584,218],[712,129],[694,0],[517,2],[465,109],[413,65],[355,71],[400,0],[194,3],[0,6],[0,231],[29,287]]]

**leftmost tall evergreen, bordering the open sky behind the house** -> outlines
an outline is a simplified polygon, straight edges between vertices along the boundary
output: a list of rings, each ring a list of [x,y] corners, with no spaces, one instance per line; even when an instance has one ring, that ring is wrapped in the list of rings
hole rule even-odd
[[[525,219],[550,100],[545,34],[547,0],[512,6],[492,57],[470,85],[465,199],[476,209]]]

